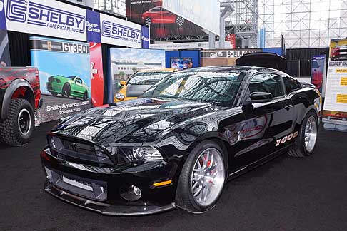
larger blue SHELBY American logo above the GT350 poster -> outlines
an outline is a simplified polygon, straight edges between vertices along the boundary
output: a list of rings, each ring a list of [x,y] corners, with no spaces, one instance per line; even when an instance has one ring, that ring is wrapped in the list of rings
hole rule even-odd
[[[28,0],[9,0],[6,18],[9,21],[84,33],[86,17]]]

